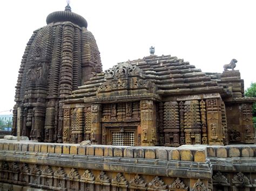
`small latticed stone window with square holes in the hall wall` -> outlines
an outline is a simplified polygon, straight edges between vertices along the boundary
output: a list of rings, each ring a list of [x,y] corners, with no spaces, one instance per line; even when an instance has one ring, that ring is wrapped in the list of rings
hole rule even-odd
[[[112,145],[134,146],[134,132],[112,132]]]

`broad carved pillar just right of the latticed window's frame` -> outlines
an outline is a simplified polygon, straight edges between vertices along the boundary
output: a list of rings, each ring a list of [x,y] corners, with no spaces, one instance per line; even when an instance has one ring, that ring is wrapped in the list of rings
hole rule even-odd
[[[140,101],[140,118],[142,126],[142,146],[156,145],[156,105],[154,105],[153,101]]]

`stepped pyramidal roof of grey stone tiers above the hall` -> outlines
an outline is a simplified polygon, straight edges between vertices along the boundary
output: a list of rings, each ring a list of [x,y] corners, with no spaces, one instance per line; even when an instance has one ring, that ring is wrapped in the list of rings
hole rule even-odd
[[[118,65],[130,65],[140,69],[139,74],[142,80],[151,82],[154,94],[158,96],[172,95],[193,95],[203,93],[223,93],[223,86],[218,85],[218,79],[201,72],[195,66],[190,65],[183,59],[171,55],[150,55],[143,59],[127,62],[120,62]],[[116,65],[116,67],[118,67]],[[104,83],[107,83],[106,74],[113,70],[106,70],[105,73],[95,74],[94,77],[84,83],[84,86],[73,91],[69,96],[73,101],[82,97],[93,98]],[[116,77],[116,76],[114,76]]]

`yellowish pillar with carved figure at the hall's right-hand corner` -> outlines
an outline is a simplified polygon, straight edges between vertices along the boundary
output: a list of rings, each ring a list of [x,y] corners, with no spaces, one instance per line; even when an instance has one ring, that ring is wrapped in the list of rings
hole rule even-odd
[[[208,144],[223,145],[221,100],[206,100]]]

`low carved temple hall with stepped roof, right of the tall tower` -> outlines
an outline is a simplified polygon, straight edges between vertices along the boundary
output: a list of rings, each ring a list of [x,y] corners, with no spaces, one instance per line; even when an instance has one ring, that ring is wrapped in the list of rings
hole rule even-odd
[[[63,101],[63,142],[127,146],[254,143],[238,70],[204,73],[151,54],[97,73]]]

